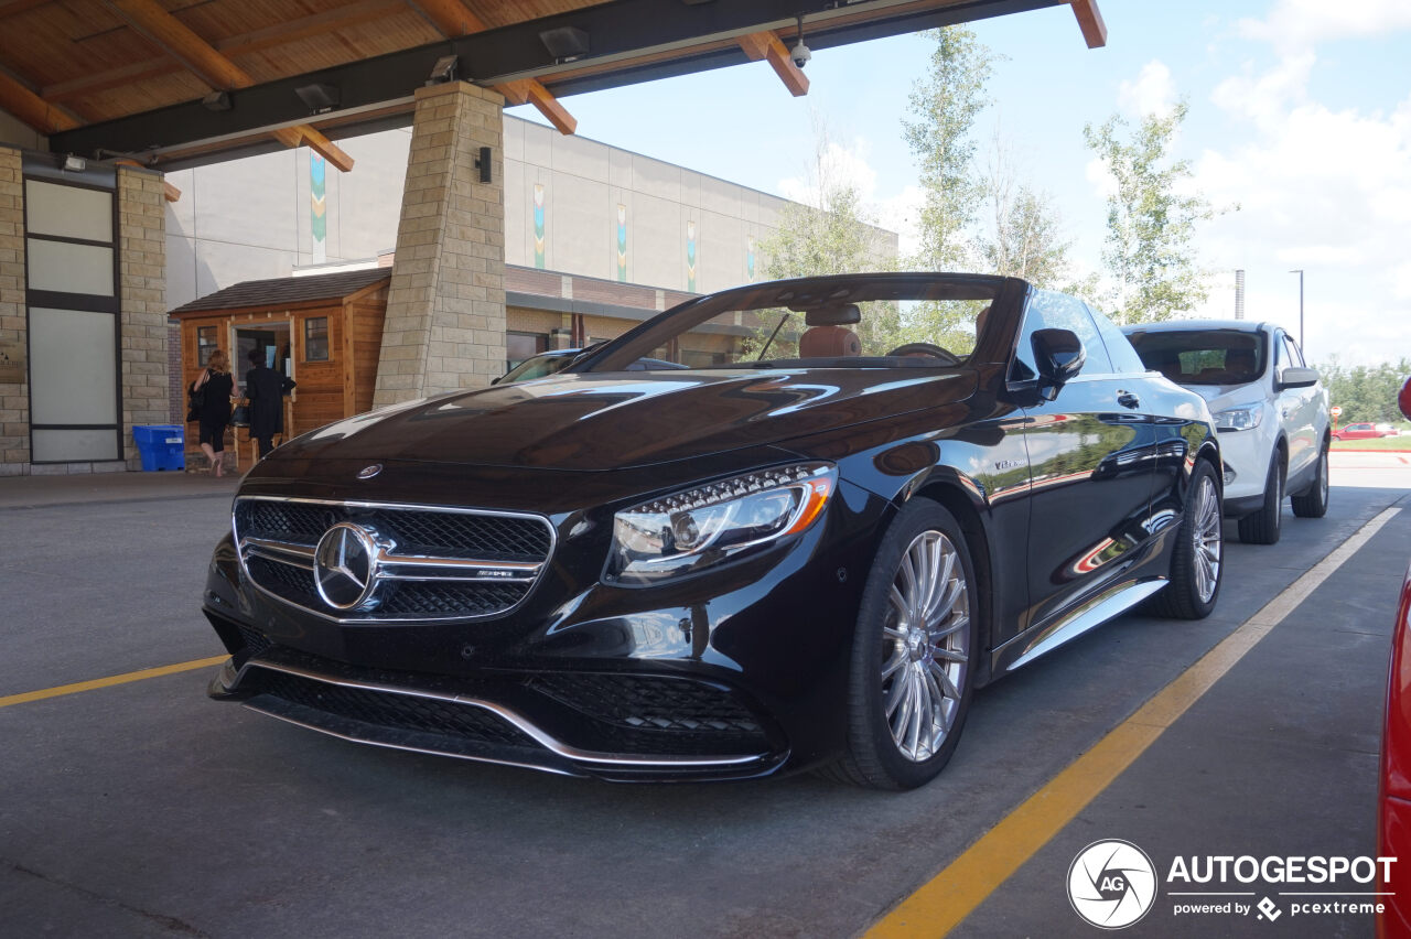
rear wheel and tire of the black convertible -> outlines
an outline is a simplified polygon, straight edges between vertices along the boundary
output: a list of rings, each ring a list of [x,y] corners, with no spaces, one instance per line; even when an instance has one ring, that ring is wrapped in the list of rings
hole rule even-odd
[[[1151,598],[1151,610],[1170,619],[1205,619],[1215,609],[1225,571],[1221,488],[1215,468],[1201,460],[1191,474],[1185,517],[1171,551],[1171,582]]]

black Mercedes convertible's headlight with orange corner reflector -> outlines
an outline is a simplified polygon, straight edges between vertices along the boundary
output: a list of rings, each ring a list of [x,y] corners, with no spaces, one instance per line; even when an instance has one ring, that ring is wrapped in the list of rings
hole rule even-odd
[[[607,579],[652,584],[698,571],[813,524],[838,471],[804,462],[746,472],[618,512]]]

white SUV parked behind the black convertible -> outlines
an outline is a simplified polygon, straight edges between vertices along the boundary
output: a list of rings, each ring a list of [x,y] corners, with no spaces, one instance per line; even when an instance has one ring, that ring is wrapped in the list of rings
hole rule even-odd
[[[1285,495],[1297,516],[1328,512],[1328,392],[1288,333],[1247,320],[1122,331],[1147,368],[1209,403],[1225,460],[1225,515],[1239,519],[1242,541],[1278,540]]]

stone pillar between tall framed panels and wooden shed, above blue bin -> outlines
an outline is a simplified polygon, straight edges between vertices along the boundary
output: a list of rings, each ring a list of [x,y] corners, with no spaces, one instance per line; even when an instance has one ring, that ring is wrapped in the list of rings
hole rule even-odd
[[[161,173],[117,168],[117,248],[123,316],[123,447],[127,468],[141,470],[133,426],[171,420],[166,202]]]

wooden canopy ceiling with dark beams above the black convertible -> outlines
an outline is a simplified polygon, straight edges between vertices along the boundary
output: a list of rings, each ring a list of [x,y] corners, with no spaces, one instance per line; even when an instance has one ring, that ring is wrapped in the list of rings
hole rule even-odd
[[[0,109],[54,152],[175,169],[305,144],[349,171],[333,140],[405,125],[446,56],[569,134],[559,96],[748,61],[803,94],[800,13],[824,49],[1050,6],[1105,44],[1096,0],[0,0]]]

